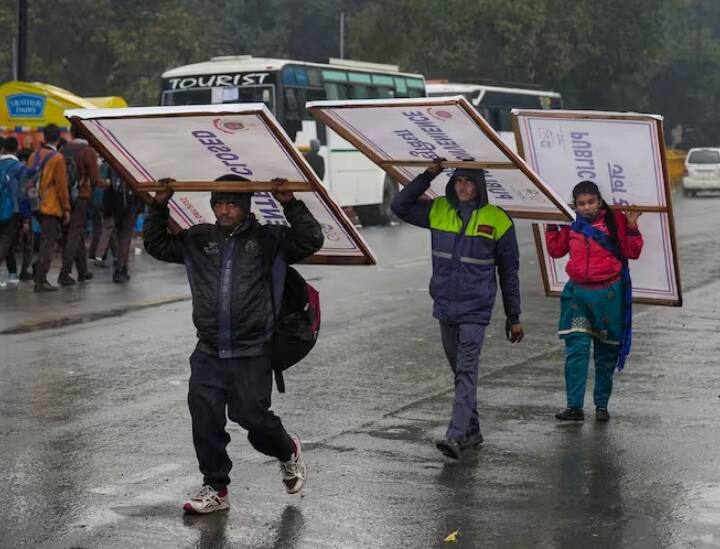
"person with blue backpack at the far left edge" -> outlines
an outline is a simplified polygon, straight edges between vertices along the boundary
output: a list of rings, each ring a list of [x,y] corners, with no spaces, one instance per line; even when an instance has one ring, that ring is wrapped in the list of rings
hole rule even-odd
[[[17,157],[18,142],[8,137],[0,145],[0,265],[7,261],[10,280],[17,281],[14,248],[22,224],[20,179],[24,166]],[[15,277],[13,277],[15,274]]]

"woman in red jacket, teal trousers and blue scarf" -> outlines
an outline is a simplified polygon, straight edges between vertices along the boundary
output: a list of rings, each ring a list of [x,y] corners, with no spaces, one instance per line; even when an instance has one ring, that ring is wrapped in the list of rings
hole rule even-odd
[[[607,404],[615,368],[630,351],[632,287],[628,259],[637,259],[643,239],[639,212],[615,212],[592,181],[573,189],[577,219],[572,225],[548,225],[548,252],[570,254],[570,280],[560,300],[558,334],[565,340],[567,408],[557,419],[582,421],[590,344],[595,347],[595,419],[608,421]]]

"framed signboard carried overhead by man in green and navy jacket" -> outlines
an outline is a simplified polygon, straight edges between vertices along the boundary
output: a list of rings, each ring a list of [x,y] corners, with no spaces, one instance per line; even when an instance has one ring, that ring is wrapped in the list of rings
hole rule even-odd
[[[446,168],[484,169],[490,202],[514,217],[573,218],[566,201],[464,97],[313,101],[307,108],[402,184],[445,158]],[[429,198],[445,194],[450,175],[446,169],[435,178]]]

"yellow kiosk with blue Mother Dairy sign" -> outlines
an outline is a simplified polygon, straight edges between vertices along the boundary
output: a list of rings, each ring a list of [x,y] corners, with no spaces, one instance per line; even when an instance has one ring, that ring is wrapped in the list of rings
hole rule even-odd
[[[122,97],[78,97],[72,92],[41,82],[17,80],[0,84],[0,135],[15,135],[24,147],[41,141],[39,130],[55,124],[70,129],[67,109],[127,107]]]

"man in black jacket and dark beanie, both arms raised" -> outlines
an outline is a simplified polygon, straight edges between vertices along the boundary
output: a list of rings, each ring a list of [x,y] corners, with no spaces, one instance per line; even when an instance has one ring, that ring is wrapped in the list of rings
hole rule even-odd
[[[265,254],[274,250],[287,263],[312,255],[323,244],[320,224],[292,192],[273,193],[289,227],[260,225],[250,213],[252,193],[213,192],[216,223],[171,235],[167,204],[172,194],[155,196],[143,237],[151,256],[185,264],[192,293],[198,344],[190,356],[188,405],[203,486],[183,509],[210,513],[229,507],[226,408],[227,416],[247,429],[256,450],[280,460],[285,488],[295,494],[307,469],[300,439],[289,435],[270,410],[275,314]]]

